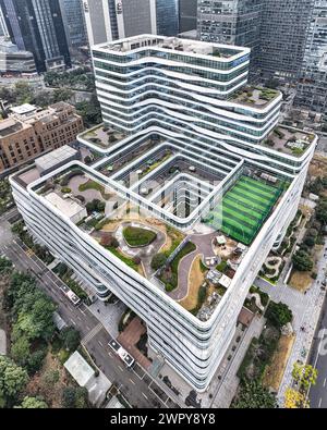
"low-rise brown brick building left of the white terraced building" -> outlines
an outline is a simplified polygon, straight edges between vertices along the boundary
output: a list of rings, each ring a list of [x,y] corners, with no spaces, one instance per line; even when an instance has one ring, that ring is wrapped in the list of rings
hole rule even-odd
[[[43,110],[14,112],[0,121],[0,173],[71,144],[84,128],[75,109],[62,101]]]

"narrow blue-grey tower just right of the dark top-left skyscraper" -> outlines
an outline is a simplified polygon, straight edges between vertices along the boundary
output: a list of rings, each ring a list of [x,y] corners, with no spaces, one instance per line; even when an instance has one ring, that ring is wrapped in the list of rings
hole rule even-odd
[[[82,0],[59,0],[66,39],[71,49],[87,44]]]

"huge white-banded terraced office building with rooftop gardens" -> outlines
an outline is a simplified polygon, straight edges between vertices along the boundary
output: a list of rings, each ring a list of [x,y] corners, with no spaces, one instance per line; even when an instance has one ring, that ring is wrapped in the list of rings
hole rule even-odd
[[[133,309],[152,351],[197,391],[295,216],[316,143],[278,126],[281,94],[247,86],[249,56],[152,35],[95,46],[105,123],[78,140],[97,159],[11,177],[34,236]]]

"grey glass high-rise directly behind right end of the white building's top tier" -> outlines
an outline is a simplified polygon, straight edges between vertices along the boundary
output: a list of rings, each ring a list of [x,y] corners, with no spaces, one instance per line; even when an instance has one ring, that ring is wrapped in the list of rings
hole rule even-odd
[[[198,37],[205,41],[251,48],[251,65],[257,67],[263,1],[198,0]]]

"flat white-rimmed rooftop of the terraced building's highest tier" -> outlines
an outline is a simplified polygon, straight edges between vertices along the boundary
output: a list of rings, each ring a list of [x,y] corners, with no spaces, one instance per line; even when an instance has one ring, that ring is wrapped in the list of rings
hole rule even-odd
[[[220,58],[222,61],[250,53],[250,49],[243,47],[154,35],[138,35],[119,41],[100,44],[95,46],[94,49],[125,53],[145,47],[167,49],[186,54],[211,56]]]

